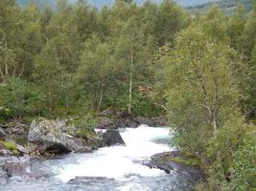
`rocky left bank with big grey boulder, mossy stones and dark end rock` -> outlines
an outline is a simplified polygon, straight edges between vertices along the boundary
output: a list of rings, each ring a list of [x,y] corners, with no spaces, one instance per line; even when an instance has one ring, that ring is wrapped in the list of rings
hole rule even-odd
[[[21,127],[19,131],[19,127],[0,127],[0,156],[51,157],[70,152],[87,153],[104,146],[125,144],[117,131],[106,130],[102,133],[86,129],[86,133],[81,135],[78,128],[60,119],[38,118],[30,126]],[[24,145],[15,141],[19,136],[26,139]]]

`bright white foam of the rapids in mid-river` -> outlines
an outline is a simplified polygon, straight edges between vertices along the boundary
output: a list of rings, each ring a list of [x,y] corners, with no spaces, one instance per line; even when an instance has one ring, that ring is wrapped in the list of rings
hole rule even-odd
[[[136,129],[121,130],[121,136],[126,146],[104,147],[92,154],[83,154],[58,169],[58,178],[67,182],[79,176],[125,179],[130,175],[154,177],[163,173],[134,161],[150,159],[153,154],[170,151],[167,144],[153,141],[155,138],[168,138],[168,128],[143,125]]]

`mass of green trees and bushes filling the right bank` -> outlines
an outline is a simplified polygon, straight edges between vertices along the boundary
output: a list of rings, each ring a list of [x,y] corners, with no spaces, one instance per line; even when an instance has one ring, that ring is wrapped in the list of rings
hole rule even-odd
[[[255,3],[256,8],[256,3]],[[175,142],[201,161],[207,182],[197,190],[255,189],[255,13],[214,7],[178,32],[162,51],[158,89],[168,100]]]

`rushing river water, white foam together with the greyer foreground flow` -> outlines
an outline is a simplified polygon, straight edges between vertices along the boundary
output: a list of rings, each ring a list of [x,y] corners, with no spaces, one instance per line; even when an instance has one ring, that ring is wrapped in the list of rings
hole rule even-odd
[[[186,191],[193,181],[143,165],[151,155],[170,151],[169,128],[140,126],[120,130],[126,146],[105,147],[92,154],[35,160],[30,171],[43,178],[12,178],[2,191]],[[79,177],[79,178],[78,178]],[[76,180],[74,180],[77,178]]]

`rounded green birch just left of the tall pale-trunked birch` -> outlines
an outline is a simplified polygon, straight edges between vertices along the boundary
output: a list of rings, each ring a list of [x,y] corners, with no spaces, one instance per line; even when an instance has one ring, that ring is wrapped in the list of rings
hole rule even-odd
[[[109,101],[111,83],[114,77],[114,62],[109,44],[101,42],[100,37],[87,40],[81,55],[81,65],[77,80],[82,89],[93,100],[93,108],[101,111],[103,101]]]

